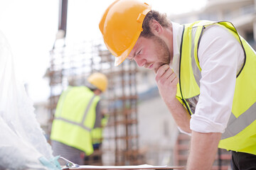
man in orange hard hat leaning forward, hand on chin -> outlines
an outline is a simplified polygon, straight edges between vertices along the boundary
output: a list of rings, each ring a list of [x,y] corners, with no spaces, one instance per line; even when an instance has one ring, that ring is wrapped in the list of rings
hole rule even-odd
[[[256,169],[256,55],[232,23],[180,25],[118,0],[100,31],[116,66],[128,58],[156,73],[161,98],[191,135],[187,169],[210,169],[218,147],[232,151],[234,169]]]

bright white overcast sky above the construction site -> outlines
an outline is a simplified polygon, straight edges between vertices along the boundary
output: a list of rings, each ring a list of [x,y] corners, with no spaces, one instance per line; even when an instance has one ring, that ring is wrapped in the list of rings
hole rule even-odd
[[[114,0],[68,1],[68,40],[100,38],[98,23]],[[153,9],[171,14],[201,8],[206,0],[148,0]],[[11,45],[16,69],[34,102],[46,101],[49,51],[58,30],[58,0],[0,0],[0,31]],[[0,49],[1,50],[1,49]]]

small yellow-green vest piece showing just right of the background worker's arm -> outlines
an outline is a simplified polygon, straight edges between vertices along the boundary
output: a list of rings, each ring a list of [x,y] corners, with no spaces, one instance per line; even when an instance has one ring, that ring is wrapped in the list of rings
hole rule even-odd
[[[102,143],[103,128],[107,125],[108,116],[105,115],[101,120],[101,127],[92,129],[92,145]]]

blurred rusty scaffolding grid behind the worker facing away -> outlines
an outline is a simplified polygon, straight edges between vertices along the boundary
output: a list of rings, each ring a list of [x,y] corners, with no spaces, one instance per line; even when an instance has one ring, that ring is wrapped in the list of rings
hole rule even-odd
[[[102,40],[99,40],[66,45],[65,38],[56,40],[50,51],[48,68],[49,124],[53,121],[55,107],[63,90],[68,86],[84,86],[90,74],[102,72],[109,80],[108,89],[101,100],[109,118],[104,129],[102,149],[93,154],[99,154],[102,162],[89,159],[86,164],[144,164],[139,153],[137,66],[134,62],[124,61],[119,67],[114,67],[114,57],[102,44]]]

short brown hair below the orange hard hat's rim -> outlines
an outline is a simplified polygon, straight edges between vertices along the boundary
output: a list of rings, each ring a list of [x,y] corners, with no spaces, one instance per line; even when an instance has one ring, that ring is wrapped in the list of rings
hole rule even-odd
[[[150,38],[154,34],[150,30],[150,23],[152,20],[156,20],[160,23],[162,27],[169,27],[171,26],[170,21],[167,19],[166,13],[159,13],[158,11],[151,10],[149,13],[146,14],[144,21],[142,23],[142,33],[140,36]]]

